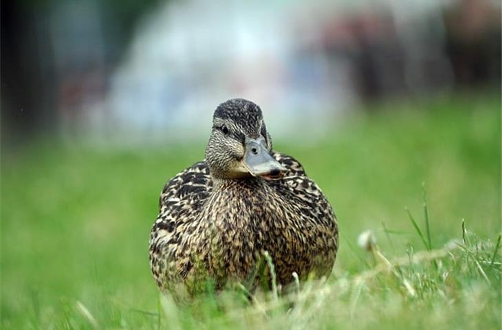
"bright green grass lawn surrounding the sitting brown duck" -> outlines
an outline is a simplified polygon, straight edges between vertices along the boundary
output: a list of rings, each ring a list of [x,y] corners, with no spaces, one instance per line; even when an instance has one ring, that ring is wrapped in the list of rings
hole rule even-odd
[[[316,146],[276,141],[333,203],[340,250],[324,283],[253,303],[237,288],[177,307],[149,272],[160,189],[204,142],[4,151],[1,328],[499,329],[500,106],[495,94],[380,104]]]

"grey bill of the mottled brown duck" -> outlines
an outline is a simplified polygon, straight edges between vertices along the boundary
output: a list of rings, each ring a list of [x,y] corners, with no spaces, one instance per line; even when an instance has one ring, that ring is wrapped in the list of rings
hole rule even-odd
[[[258,140],[245,140],[243,165],[252,176],[269,180],[280,179],[286,171],[286,168],[268,153],[263,137]]]

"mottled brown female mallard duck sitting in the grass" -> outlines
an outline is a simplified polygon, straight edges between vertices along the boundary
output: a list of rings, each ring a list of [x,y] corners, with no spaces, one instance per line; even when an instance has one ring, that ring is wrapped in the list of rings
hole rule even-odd
[[[217,107],[206,160],[168,181],[150,237],[162,292],[193,294],[205,278],[221,288],[249,281],[265,251],[285,285],[327,276],[338,225],[320,188],[294,158],[272,151],[261,109],[248,100]]]

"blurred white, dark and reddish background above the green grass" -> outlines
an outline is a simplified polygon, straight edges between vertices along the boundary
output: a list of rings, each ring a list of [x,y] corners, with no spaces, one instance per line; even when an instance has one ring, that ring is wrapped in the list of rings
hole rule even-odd
[[[499,1],[42,2],[6,9],[19,22],[2,29],[10,140],[40,127],[69,141],[205,139],[212,111],[239,97],[273,136],[308,129],[315,142],[367,102],[500,83]]]

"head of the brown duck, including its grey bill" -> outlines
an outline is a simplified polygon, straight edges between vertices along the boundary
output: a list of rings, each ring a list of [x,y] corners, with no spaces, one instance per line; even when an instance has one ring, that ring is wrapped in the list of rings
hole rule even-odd
[[[212,177],[279,179],[286,168],[271,153],[272,140],[257,104],[240,98],[219,104],[206,147]]]

